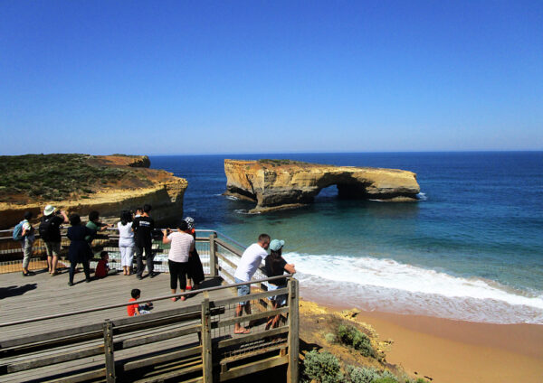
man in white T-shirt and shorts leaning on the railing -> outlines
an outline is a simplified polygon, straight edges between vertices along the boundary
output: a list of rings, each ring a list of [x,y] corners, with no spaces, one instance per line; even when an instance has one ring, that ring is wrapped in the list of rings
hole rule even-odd
[[[249,248],[246,248],[243,251],[242,259],[240,264],[235,270],[233,275],[234,281],[236,284],[242,284],[243,282],[249,282],[258,270],[258,267],[261,266],[262,260],[265,257],[268,257],[268,252],[266,251],[270,247],[270,236],[267,234],[261,234],[258,237],[258,242],[253,243]],[[237,286],[238,296],[251,294],[251,285],[241,285]],[[242,316],[243,307],[245,308],[245,313],[251,314],[251,303],[240,302],[235,309],[235,316]],[[236,334],[248,334],[251,332],[249,329],[242,327],[240,322],[235,323],[233,332]]]

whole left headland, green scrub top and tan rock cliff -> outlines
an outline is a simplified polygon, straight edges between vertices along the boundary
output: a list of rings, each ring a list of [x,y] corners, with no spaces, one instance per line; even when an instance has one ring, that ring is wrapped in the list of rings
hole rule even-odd
[[[26,210],[41,215],[49,203],[80,215],[99,210],[106,220],[144,203],[156,220],[181,217],[186,180],[149,166],[147,155],[0,156],[0,229],[13,228]]]

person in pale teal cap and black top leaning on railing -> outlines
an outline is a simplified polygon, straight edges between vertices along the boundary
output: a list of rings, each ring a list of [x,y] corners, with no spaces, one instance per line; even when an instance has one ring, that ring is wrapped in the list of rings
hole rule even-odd
[[[296,268],[294,268],[294,264],[289,264],[285,260],[285,258],[282,257],[282,248],[285,245],[284,240],[280,239],[273,239],[270,242],[270,255],[266,257],[266,276],[282,276],[285,272],[289,274],[296,273]],[[275,279],[273,281],[269,282],[270,290],[278,290],[281,288],[287,287],[287,279]],[[284,306],[287,303],[287,294],[281,294],[281,295],[275,295],[271,298],[271,303],[273,304],[273,309],[277,309],[279,307]],[[281,318],[280,314],[277,314],[273,317],[271,317],[268,322],[266,323],[266,330],[268,330],[270,327],[275,328],[279,324],[279,320]]]

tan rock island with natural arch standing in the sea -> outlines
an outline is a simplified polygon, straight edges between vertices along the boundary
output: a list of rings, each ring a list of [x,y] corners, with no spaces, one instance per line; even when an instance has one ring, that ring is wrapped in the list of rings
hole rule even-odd
[[[320,190],[338,186],[345,198],[417,201],[416,174],[396,169],[330,166],[289,160],[224,160],[226,195],[256,201],[255,211],[308,203]]]

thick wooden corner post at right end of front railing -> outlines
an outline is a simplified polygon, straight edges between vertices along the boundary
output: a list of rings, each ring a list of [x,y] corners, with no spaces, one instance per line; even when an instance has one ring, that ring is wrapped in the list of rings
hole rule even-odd
[[[298,359],[300,354],[300,315],[298,299],[298,281],[289,281],[289,369],[287,382],[298,382]]]

